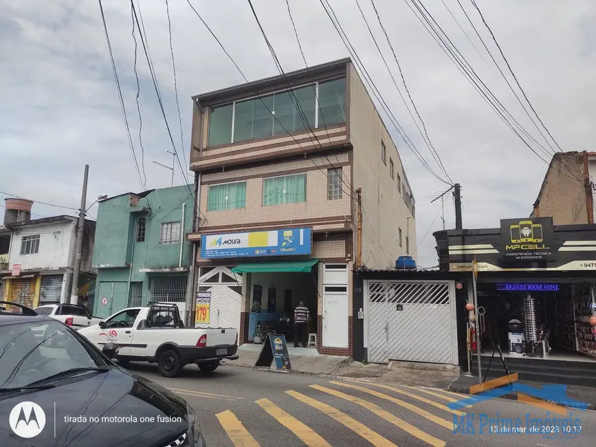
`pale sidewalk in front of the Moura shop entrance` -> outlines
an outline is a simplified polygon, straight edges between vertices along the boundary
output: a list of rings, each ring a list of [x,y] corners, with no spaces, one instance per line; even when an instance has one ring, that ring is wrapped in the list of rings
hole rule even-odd
[[[226,365],[236,367],[252,368],[256,363],[258,354],[261,352],[263,345],[253,345],[245,343],[238,348],[236,355],[238,360],[226,361]],[[349,361],[349,357],[340,356],[323,356],[314,348],[295,348],[288,347],[289,358],[291,362],[291,369],[298,373],[307,374],[329,374],[331,371],[338,369],[341,364]]]

